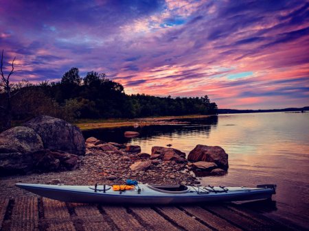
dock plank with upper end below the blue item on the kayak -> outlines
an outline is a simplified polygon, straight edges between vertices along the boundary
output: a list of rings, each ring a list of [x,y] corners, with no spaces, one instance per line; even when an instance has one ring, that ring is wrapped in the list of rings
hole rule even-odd
[[[137,217],[142,219],[149,229],[170,231],[179,230],[149,206],[129,206],[128,208],[129,210],[132,210]]]

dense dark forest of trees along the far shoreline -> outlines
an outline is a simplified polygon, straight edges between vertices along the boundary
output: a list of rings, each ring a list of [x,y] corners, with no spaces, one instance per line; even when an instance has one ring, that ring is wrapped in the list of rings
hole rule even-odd
[[[0,88],[0,106],[7,104],[5,88]],[[110,119],[185,114],[216,114],[218,108],[205,97],[155,97],[126,95],[124,86],[90,71],[86,77],[71,68],[60,82],[31,84],[23,80],[11,86],[13,119],[25,120],[41,114],[73,121],[74,119]],[[5,113],[1,112],[0,113]],[[1,114],[0,114],[1,115]]]

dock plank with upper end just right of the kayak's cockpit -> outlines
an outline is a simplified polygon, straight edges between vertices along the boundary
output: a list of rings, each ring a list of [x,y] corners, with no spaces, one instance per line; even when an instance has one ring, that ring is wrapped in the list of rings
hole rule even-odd
[[[231,223],[213,215],[211,212],[206,211],[205,209],[201,208],[200,206],[196,205],[185,205],[179,206],[181,209],[185,210],[185,212],[189,213],[190,215],[200,219],[201,221],[207,223],[208,226],[215,228],[219,231],[228,231],[228,230],[235,230],[241,231],[240,228],[233,226]]]

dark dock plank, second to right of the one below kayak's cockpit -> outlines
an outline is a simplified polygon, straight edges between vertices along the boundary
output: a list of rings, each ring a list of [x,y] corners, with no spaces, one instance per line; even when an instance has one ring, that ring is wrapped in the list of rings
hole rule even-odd
[[[203,205],[203,208],[206,208],[207,210],[213,212],[215,215],[222,217],[223,219],[229,221],[230,223],[235,224],[236,226],[239,226],[242,229],[267,230],[262,226],[262,224],[251,221],[250,219],[247,219],[246,217],[242,217],[238,215],[237,212],[228,210],[227,208],[223,206],[205,204]]]

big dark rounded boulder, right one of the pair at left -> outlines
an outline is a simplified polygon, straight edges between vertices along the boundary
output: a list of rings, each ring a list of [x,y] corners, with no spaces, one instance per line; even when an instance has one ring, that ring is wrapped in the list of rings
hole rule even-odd
[[[80,128],[62,119],[43,115],[24,123],[23,126],[32,128],[41,136],[45,149],[66,151],[78,156],[86,152]]]

